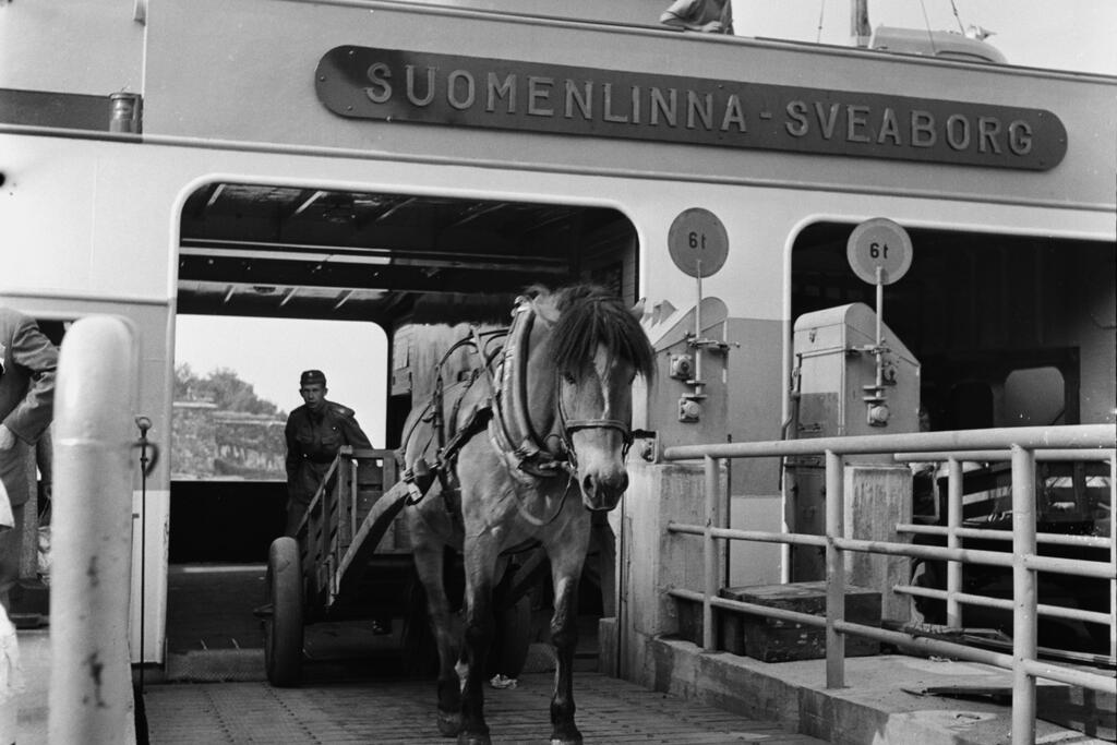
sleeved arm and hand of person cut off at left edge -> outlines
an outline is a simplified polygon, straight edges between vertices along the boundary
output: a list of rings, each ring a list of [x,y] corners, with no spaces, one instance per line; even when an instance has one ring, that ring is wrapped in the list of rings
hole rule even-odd
[[[17,322],[4,364],[26,370],[28,388],[23,399],[4,417],[0,428],[23,442],[34,443],[54,417],[58,350],[39,331],[34,318],[22,316]]]

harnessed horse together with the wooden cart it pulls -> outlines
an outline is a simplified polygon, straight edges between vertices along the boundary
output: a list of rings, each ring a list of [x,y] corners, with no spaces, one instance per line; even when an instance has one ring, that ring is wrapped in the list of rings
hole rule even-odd
[[[392,451],[340,455],[297,536],[271,544],[265,658],[274,685],[298,678],[303,622],[360,614],[378,598],[367,586],[383,581],[378,561],[410,546],[429,611],[428,648],[438,653],[439,732],[491,742],[484,684],[518,675],[532,639],[527,593],[550,574],[551,742],[582,743],[572,678],[580,580],[594,533],[609,533],[603,516],[628,488],[632,381],[656,369],[640,315],[601,287],[533,287],[517,298],[507,331],[486,337],[471,328],[442,355],[430,402],[420,398],[403,426],[402,480]],[[472,364],[454,371],[458,348]],[[392,545],[379,551],[381,543]],[[448,573],[455,551],[462,571]],[[600,586],[612,561],[599,566]],[[395,567],[389,579],[404,574]]]

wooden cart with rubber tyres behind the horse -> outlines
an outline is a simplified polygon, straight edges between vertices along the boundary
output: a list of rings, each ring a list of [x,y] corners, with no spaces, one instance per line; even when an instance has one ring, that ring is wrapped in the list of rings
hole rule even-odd
[[[385,485],[391,488],[385,489]],[[261,613],[264,658],[274,686],[297,685],[304,629],[324,621],[424,619],[416,593],[410,534],[401,514],[417,495],[398,480],[395,452],[343,447],[299,524],[297,535],[276,538],[268,554]],[[537,582],[542,557],[529,556],[518,572],[515,596],[498,609],[504,672],[515,677],[527,655],[531,608],[527,581]],[[449,573],[452,576],[452,572]],[[424,646],[424,624],[409,634]],[[412,629],[412,631],[417,631]],[[412,665],[432,659],[432,649],[410,649]]]

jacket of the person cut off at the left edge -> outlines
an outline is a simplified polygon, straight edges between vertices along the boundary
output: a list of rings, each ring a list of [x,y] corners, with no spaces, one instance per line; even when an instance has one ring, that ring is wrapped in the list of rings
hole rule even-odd
[[[0,450],[0,479],[12,505],[30,496],[26,453],[54,417],[57,365],[58,350],[35,319],[0,307],[0,421],[17,438]]]

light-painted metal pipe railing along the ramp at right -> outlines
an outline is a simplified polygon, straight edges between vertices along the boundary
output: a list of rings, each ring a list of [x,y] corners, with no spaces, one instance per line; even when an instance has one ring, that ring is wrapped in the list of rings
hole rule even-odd
[[[1075,539],[1076,543],[1094,547],[1108,547],[1108,562],[1089,562],[1038,555],[1040,536],[1035,528],[1035,462],[1040,459],[1065,459],[1077,451],[1080,460],[1105,459],[1110,464],[1110,506],[1115,484],[1114,447],[1117,427],[1111,424],[1085,424],[1075,427],[1029,427],[994,430],[970,430],[957,432],[924,432],[914,434],[871,434],[863,437],[819,438],[811,440],[783,440],[768,442],[728,442],[716,445],[678,446],[666,448],[663,459],[668,461],[701,459],[705,465],[705,524],[668,524],[668,532],[703,537],[704,588],[701,592],[676,588],[669,592],[674,598],[700,602],[703,605],[703,647],[707,651],[716,649],[714,609],[743,611],[761,617],[801,623],[825,629],[827,659],[825,675],[828,688],[844,685],[844,634],[852,633],[881,642],[915,648],[942,656],[955,657],[993,665],[1013,672],[1012,695],[1012,742],[1014,745],[1031,743],[1035,735],[1035,678],[1042,677],[1065,684],[1081,686],[1097,691],[1117,694],[1117,681],[1109,675],[1098,675],[1087,670],[1063,667],[1038,660],[1038,615],[1041,612],[1063,614],[1080,620],[1108,622],[1110,639],[1114,634],[1115,599],[1117,588],[1117,556],[1113,527],[1109,537]],[[984,452],[991,451],[991,452]],[[825,534],[805,535],[796,533],[772,533],[764,531],[739,531],[719,524],[727,510],[719,509],[724,489],[719,488],[720,459],[766,458],[787,456],[825,456]],[[887,541],[865,541],[847,538],[844,515],[844,462],[843,456],[889,453],[907,459],[934,460],[946,455],[951,461],[951,487],[948,489],[948,512],[952,516],[945,531],[947,545],[926,546]],[[901,456],[900,453],[907,453]],[[957,453],[957,455],[955,455]],[[978,551],[962,547],[961,538],[968,537],[961,527],[962,474],[961,462],[966,458],[983,456],[982,460],[1010,460],[1012,464],[1012,552]],[[989,457],[984,457],[989,456]],[[1111,525],[1111,523],[1110,523]],[[901,524],[899,533],[924,532],[926,526]],[[982,532],[987,538],[994,532]],[[1043,541],[1051,536],[1043,535]],[[1065,536],[1056,538],[1065,539]],[[774,609],[755,603],[718,598],[720,579],[717,555],[718,541],[758,541],[791,545],[822,546],[825,548],[827,613],[817,617],[783,609]],[[961,592],[961,565],[983,564],[1012,569],[1013,611],[1012,653],[1000,653],[976,649],[938,639],[917,638],[907,633],[879,629],[871,625],[846,621],[844,596],[846,573],[844,552],[867,552],[894,556],[918,557],[948,562],[956,573],[955,581],[943,594],[948,602],[970,602],[975,596]],[[1109,580],[1109,613],[1095,614],[1085,611],[1068,612],[1038,602],[1037,572],[1056,572],[1086,577]],[[901,586],[909,594],[913,589]],[[985,602],[982,599],[980,602]],[[957,605],[953,605],[957,613]],[[1110,644],[1113,652],[1113,643]]]

